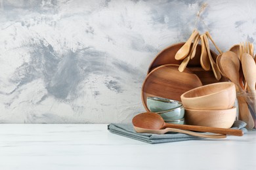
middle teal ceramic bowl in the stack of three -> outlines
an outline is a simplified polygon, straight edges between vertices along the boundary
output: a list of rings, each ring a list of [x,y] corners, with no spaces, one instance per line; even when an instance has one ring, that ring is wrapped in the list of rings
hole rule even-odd
[[[185,109],[183,105],[181,105],[173,109],[165,110],[162,112],[156,112],[156,113],[160,114],[163,120],[177,120],[177,119],[184,118]]]

